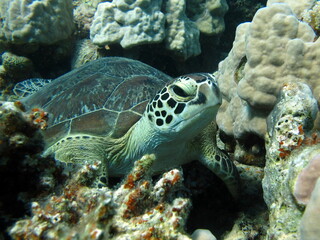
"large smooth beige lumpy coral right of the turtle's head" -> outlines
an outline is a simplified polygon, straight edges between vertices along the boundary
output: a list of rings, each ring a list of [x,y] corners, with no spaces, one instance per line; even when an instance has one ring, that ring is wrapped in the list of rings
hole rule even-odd
[[[266,117],[283,84],[305,82],[320,101],[320,40],[285,3],[268,4],[251,23],[239,25],[233,48],[219,64],[219,86],[226,101],[219,127],[236,139],[264,138]]]

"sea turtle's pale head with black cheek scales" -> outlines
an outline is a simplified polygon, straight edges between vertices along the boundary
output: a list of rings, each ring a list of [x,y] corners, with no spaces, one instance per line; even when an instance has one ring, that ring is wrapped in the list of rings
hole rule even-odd
[[[215,119],[221,101],[212,74],[188,74],[160,90],[149,102],[146,116],[163,133],[194,137]]]

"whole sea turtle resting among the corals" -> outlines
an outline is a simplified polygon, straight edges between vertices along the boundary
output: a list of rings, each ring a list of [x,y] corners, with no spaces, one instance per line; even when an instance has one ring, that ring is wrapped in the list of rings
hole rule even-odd
[[[28,81],[24,86],[32,86]],[[46,155],[65,163],[99,161],[98,184],[126,174],[145,154],[156,156],[154,173],[198,159],[237,196],[237,169],[216,146],[221,94],[212,74],[172,79],[142,62],[107,57],[47,82],[21,100],[49,113]]]

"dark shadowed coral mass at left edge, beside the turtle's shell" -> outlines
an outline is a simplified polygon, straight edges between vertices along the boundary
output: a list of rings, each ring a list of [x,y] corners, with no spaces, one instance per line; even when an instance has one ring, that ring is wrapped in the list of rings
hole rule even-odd
[[[20,102],[0,103],[0,238],[29,211],[32,198],[49,194],[64,179],[53,159],[39,156],[44,143],[38,113],[24,112]]]

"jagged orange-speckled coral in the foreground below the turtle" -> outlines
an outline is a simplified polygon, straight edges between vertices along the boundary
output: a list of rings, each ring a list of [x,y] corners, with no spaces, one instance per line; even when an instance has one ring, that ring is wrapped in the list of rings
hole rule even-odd
[[[96,170],[81,168],[60,196],[32,203],[32,217],[10,229],[13,239],[191,239],[184,232],[191,203],[177,197],[182,173],[173,169],[153,184],[146,155],[115,190],[88,188],[82,179]]]

